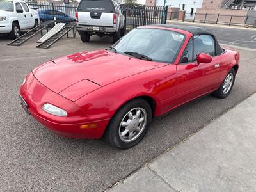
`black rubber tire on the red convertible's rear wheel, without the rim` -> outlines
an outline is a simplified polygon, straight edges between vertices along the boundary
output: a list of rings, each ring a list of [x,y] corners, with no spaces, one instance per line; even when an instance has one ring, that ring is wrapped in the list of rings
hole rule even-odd
[[[225,80],[228,78],[228,76],[232,76],[232,84],[230,84],[230,88],[227,92],[225,92],[224,90],[224,86],[225,86]],[[224,99],[226,97],[228,97],[229,93],[231,92],[234,83],[235,83],[235,79],[236,79],[236,71],[234,70],[234,68],[232,68],[227,76],[225,77],[223,83],[221,83],[221,86],[218,88],[218,90],[216,90],[216,92],[214,92],[212,95],[214,95],[215,97],[218,97],[220,99]]]

